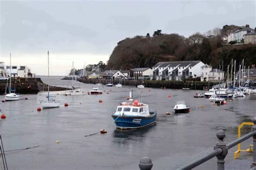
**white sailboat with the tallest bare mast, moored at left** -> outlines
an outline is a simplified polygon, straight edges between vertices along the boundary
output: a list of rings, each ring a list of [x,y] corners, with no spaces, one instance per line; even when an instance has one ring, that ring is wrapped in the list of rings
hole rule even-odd
[[[60,103],[59,101],[50,98],[50,85],[49,85],[49,51],[48,51],[48,95],[47,95],[47,100],[40,100],[41,106],[43,108],[55,108],[55,107],[59,107]]]

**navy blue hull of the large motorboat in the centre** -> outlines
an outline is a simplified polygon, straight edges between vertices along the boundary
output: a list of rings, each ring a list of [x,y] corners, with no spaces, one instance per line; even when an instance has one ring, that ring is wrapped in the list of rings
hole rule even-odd
[[[150,117],[140,117],[140,116],[119,116],[112,115],[115,120],[117,128],[129,129],[129,128],[140,128],[156,123],[157,113],[153,113]]]

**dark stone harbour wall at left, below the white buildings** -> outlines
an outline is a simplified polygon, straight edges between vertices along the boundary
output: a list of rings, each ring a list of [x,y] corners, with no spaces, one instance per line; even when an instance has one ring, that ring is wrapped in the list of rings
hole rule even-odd
[[[9,92],[9,81],[0,80],[0,94],[4,94],[5,91]],[[48,89],[48,85],[44,84],[41,78],[12,78],[11,89],[15,89],[16,93],[20,94],[37,94],[39,91]],[[50,91],[62,91],[66,90],[64,87],[50,86]]]

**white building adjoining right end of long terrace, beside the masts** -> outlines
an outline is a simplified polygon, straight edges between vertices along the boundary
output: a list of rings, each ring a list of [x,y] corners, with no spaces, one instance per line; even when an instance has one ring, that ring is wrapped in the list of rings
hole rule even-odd
[[[224,71],[212,69],[212,66],[205,64],[201,67],[201,81],[219,81],[224,79]]]

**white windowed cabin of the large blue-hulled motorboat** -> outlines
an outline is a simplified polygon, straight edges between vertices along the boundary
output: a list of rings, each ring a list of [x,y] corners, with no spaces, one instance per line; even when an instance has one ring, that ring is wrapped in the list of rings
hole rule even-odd
[[[117,106],[116,113],[114,115],[125,115],[125,116],[150,116],[149,106],[143,103],[137,105],[133,103],[123,102],[120,106]]]

